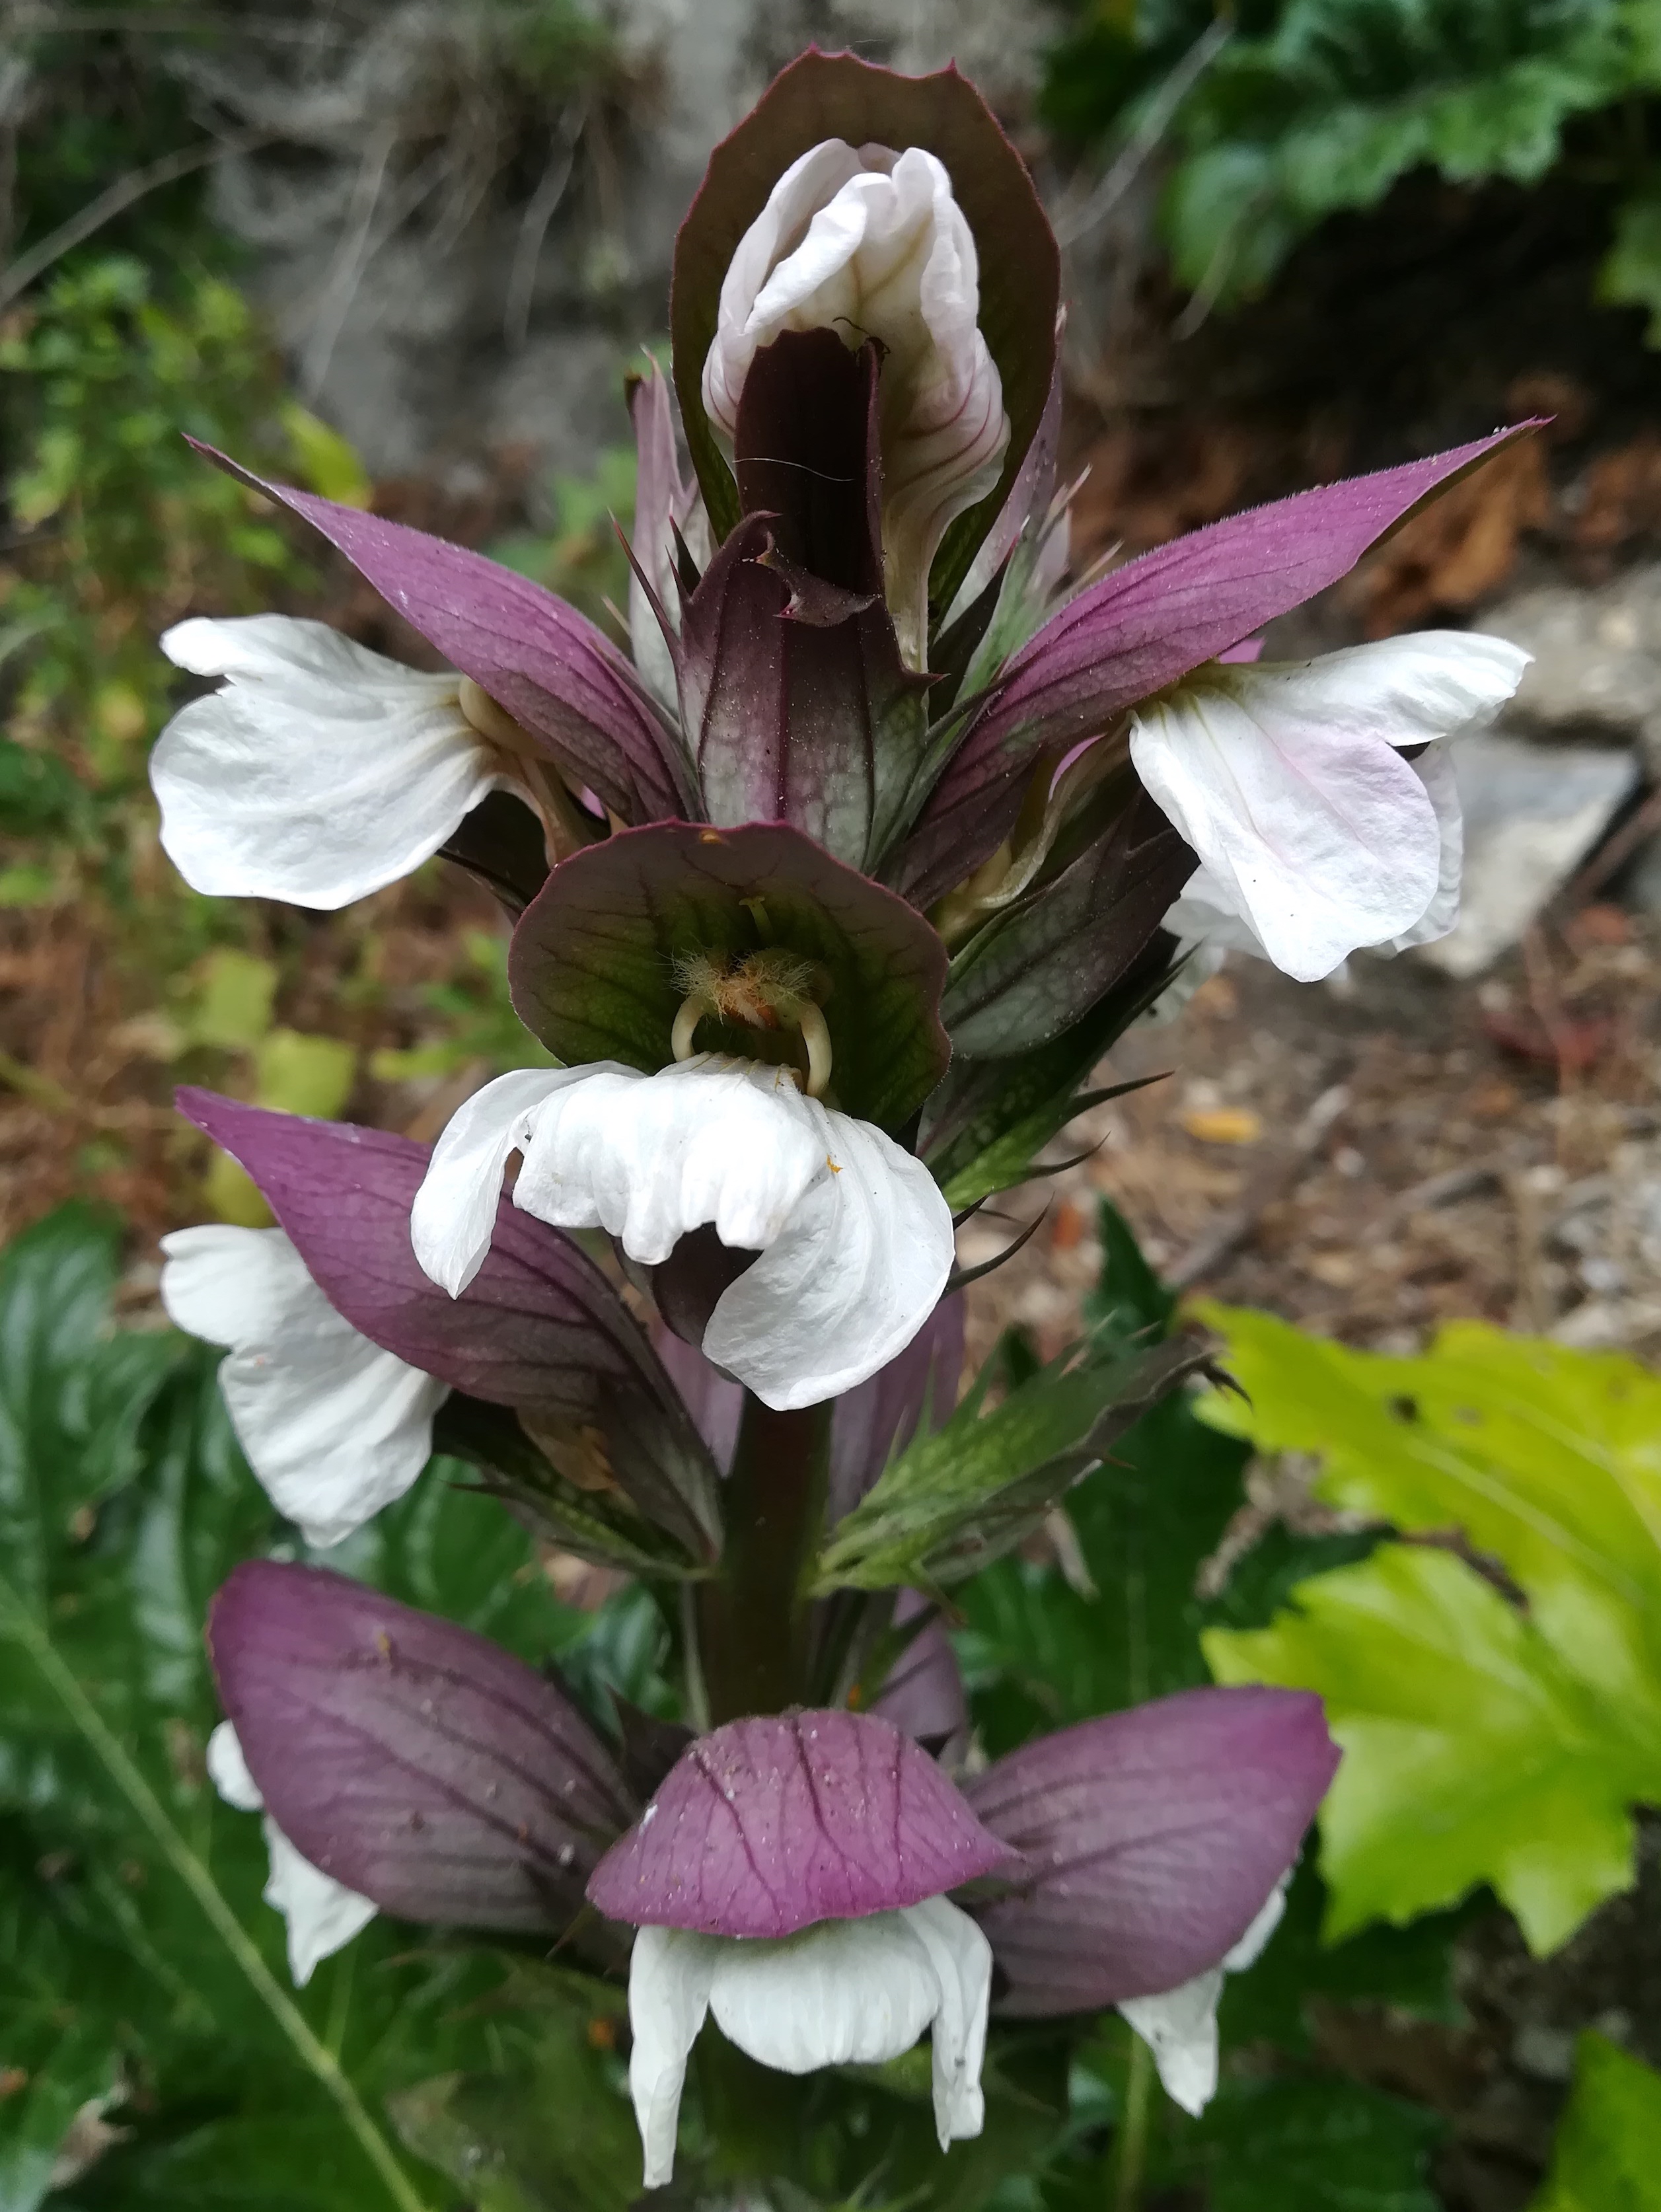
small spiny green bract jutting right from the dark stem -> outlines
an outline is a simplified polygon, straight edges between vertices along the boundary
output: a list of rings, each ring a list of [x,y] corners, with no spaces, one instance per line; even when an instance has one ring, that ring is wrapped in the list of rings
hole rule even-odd
[[[958,1582],[1020,1544],[1148,1407],[1208,1358],[1199,1340],[1152,1349],[1097,1332],[1020,1380],[991,1413],[991,1360],[951,1420],[913,1438],[845,1515],[812,1588]]]

